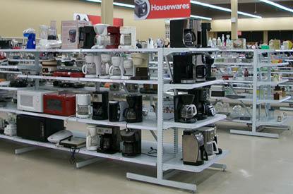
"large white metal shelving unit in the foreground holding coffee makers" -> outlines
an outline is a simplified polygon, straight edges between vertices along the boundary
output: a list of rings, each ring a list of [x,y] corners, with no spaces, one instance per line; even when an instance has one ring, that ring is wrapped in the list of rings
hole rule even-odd
[[[218,49],[189,49],[189,48],[182,48],[182,49],[76,49],[76,50],[60,50],[60,49],[52,49],[52,50],[27,50],[27,49],[20,49],[20,50],[0,50],[4,52],[13,52],[13,53],[31,53],[35,55],[35,68],[40,68],[40,54],[43,52],[58,52],[58,53],[83,53],[83,54],[100,54],[100,53],[129,53],[129,52],[145,52],[150,54],[157,54],[158,61],[157,61],[157,71],[158,76],[155,80],[111,80],[111,79],[89,79],[89,78],[61,78],[61,77],[52,77],[52,76],[42,76],[42,75],[18,75],[18,78],[30,78],[35,80],[35,88],[42,88],[42,87],[49,87],[50,86],[40,86],[39,81],[40,80],[66,80],[66,81],[76,81],[76,82],[91,82],[91,83],[97,83],[95,89],[100,90],[102,88],[99,88],[98,83],[136,83],[136,84],[151,84],[151,85],[158,85],[157,90],[157,117],[155,114],[149,113],[148,118],[144,118],[142,123],[126,123],[126,122],[109,122],[107,120],[105,121],[95,121],[92,119],[78,119],[75,116],[66,117],[66,116],[56,116],[56,115],[50,115],[50,114],[39,114],[29,111],[20,111],[16,109],[16,104],[8,104],[6,107],[1,107],[0,111],[5,112],[11,112],[15,114],[27,114],[32,116],[42,116],[45,118],[52,118],[52,119],[60,119],[64,121],[76,121],[80,123],[92,123],[97,125],[106,125],[106,126],[119,126],[121,128],[137,128],[141,130],[146,130],[152,132],[154,135],[156,141],[155,142],[143,142],[143,152],[147,152],[150,147],[156,147],[157,148],[157,157],[150,157],[148,155],[141,155],[140,157],[134,157],[134,158],[126,158],[121,155],[121,153],[117,154],[102,154],[98,152],[91,152],[86,150],[85,148],[80,149],[79,154],[86,154],[94,157],[93,159],[90,159],[89,161],[80,162],[77,164],[78,167],[85,166],[88,164],[92,164],[93,162],[96,162],[100,158],[108,158],[108,159],[118,159],[124,162],[133,162],[136,164],[144,164],[148,166],[154,166],[157,168],[157,175],[155,177],[150,176],[143,176],[139,174],[131,174],[127,173],[126,177],[138,180],[138,181],[145,181],[148,183],[155,183],[162,186],[170,186],[174,188],[183,188],[186,190],[196,190],[195,184],[189,184],[189,183],[182,183],[179,181],[170,181],[169,178],[176,175],[178,171],[190,171],[190,172],[201,172],[208,167],[213,167],[217,169],[227,169],[227,164],[217,164],[217,162],[225,157],[229,151],[223,150],[222,154],[217,155],[217,157],[213,157],[213,159],[209,159],[205,162],[205,164],[201,166],[190,166],[183,164],[181,161],[182,157],[182,148],[181,145],[179,145],[179,128],[199,128],[201,126],[208,125],[210,123],[215,123],[217,121],[221,121],[222,119],[226,119],[225,115],[216,115],[213,117],[209,117],[208,119],[205,119],[204,121],[198,121],[194,124],[186,124],[186,123],[175,123],[174,121],[164,121],[163,120],[163,112],[162,107],[164,103],[164,96],[170,93],[170,90],[174,93],[178,89],[193,89],[196,87],[204,87],[208,85],[213,84],[219,84],[222,83],[222,80],[215,80],[212,82],[206,82],[206,83],[196,83],[192,85],[172,85],[169,84],[169,80],[165,79],[163,76],[164,71],[164,63],[167,63],[168,61],[164,61],[165,56],[169,56],[176,53],[205,53],[210,51],[218,51]],[[48,89],[49,89],[48,88]],[[0,88],[1,89],[1,88]],[[11,88],[6,88],[7,90]],[[85,87],[83,90],[90,89],[92,91],[92,87],[88,88]],[[14,89],[13,89],[14,90]],[[15,89],[18,90],[18,89]],[[166,130],[173,130],[174,131],[174,142],[171,144],[164,142],[164,131]],[[156,134],[154,133],[156,132]],[[85,133],[83,133],[85,136]],[[28,145],[33,145],[34,147],[47,147],[51,149],[57,149],[57,150],[63,150],[63,151],[70,151],[70,149],[64,148],[64,147],[57,147],[56,145],[52,143],[40,143],[32,140],[25,140],[23,138],[18,137],[8,137],[6,135],[0,135],[0,138],[6,139],[6,140],[12,140],[19,143],[25,143]],[[21,152],[27,152],[30,150],[34,150],[35,148],[23,148],[23,150],[17,150],[18,153]]]

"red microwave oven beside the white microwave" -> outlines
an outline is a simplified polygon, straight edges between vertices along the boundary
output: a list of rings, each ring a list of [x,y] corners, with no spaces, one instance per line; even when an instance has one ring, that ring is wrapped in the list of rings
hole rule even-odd
[[[61,116],[76,115],[76,94],[72,92],[44,94],[44,113]]]

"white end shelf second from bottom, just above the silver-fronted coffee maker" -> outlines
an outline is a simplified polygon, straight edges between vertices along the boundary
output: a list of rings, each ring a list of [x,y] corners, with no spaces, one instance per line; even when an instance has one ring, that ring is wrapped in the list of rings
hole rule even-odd
[[[174,122],[174,119],[171,121],[164,121],[163,128],[189,128],[189,129],[196,129],[202,126],[207,126],[210,123],[215,123],[217,121],[221,121],[226,119],[227,116],[224,114],[216,114],[215,116],[209,116],[208,119],[197,121],[196,123],[177,123]]]

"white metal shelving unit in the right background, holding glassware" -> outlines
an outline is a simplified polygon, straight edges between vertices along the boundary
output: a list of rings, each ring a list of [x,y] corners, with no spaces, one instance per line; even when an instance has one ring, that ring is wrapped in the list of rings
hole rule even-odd
[[[239,50],[234,51],[227,51],[221,50],[220,52],[239,52]],[[268,119],[268,109],[270,109],[270,104],[279,104],[282,102],[287,102],[287,100],[291,99],[290,96],[280,98],[279,100],[273,99],[273,94],[271,91],[272,86],[281,85],[282,83],[287,83],[288,79],[282,79],[278,81],[269,80],[272,73],[272,68],[282,68],[283,66],[289,65],[289,63],[270,63],[270,60],[262,59],[263,53],[275,53],[275,50],[243,50],[244,52],[253,52],[253,63],[243,63],[241,66],[245,66],[247,68],[253,68],[251,73],[253,73],[252,80],[225,80],[225,83],[232,88],[232,91],[235,95],[238,95],[234,88],[234,85],[238,84],[249,84],[252,85],[249,90],[252,90],[252,95],[247,96],[246,98],[240,99],[229,99],[227,97],[211,97],[211,99],[216,100],[229,100],[229,101],[238,101],[241,102],[243,107],[246,107],[244,102],[251,102],[252,110],[251,110],[251,120],[249,121],[242,121],[239,119],[226,119],[225,121],[235,122],[235,123],[246,123],[251,126],[251,131],[240,131],[240,130],[231,130],[230,133],[241,134],[241,135],[254,135],[254,136],[261,136],[261,137],[269,137],[269,138],[279,138],[279,135],[276,133],[263,133],[263,129],[266,127],[282,127],[282,129],[289,129],[289,126],[285,126],[285,124],[289,121],[289,119],[284,119],[282,122],[277,122],[277,117],[274,119]],[[215,66],[223,66],[224,64],[215,63]],[[226,66],[234,66],[234,63],[227,63]],[[239,65],[239,64],[238,64]],[[266,72],[260,72],[259,70],[266,68]],[[263,74],[266,73],[266,78],[263,77]],[[241,90],[241,87],[238,89]],[[246,90],[246,89],[245,89]],[[257,94],[257,91],[258,94]],[[263,94],[263,95],[261,95]],[[240,94],[243,95],[243,94]],[[262,114],[262,107],[266,114],[263,116]],[[249,109],[246,108],[246,111]]]

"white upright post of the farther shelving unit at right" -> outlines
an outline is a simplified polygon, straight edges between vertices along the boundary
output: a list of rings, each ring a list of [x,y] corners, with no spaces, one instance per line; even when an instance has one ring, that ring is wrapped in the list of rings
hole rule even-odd
[[[252,95],[252,132],[256,133],[256,109],[257,109],[257,80],[258,80],[258,51],[253,51],[253,95]],[[260,69],[261,71],[261,69]],[[260,91],[261,92],[261,91]]]

